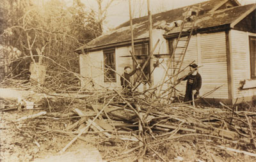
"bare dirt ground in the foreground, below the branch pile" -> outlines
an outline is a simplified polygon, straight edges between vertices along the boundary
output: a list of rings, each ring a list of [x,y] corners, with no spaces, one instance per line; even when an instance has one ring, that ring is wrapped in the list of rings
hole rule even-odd
[[[24,161],[136,161],[139,150],[126,154],[126,151],[138,146],[134,142],[107,138],[99,133],[83,135],[63,154],[58,154],[74,138],[72,135],[52,131],[38,131],[35,128],[65,129],[70,120],[51,121],[38,117],[24,122],[12,122],[19,117],[36,114],[42,110],[13,110],[1,112],[0,159],[3,162]],[[35,122],[36,121],[36,122]],[[31,128],[29,128],[29,126]],[[33,128],[32,128],[33,127]],[[38,133],[36,136],[32,136]],[[182,136],[157,145],[148,146],[144,161],[256,161],[256,157],[220,149],[217,145],[253,152],[250,145],[238,145],[221,139],[198,138],[180,133]],[[150,147],[154,149],[151,151]],[[163,159],[161,159],[161,158]]]

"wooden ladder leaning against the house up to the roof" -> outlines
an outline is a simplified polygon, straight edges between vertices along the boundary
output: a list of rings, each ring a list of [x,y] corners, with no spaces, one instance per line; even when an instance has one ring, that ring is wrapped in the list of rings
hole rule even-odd
[[[161,97],[163,94],[165,94],[169,90],[171,92],[168,96],[172,96],[172,92],[173,92],[173,90],[175,90],[175,89],[168,88],[168,91],[161,92],[161,89],[163,88],[164,84],[168,84],[173,87],[173,85],[176,83],[176,80],[180,73],[180,69],[182,67],[182,63],[184,61],[184,56],[188,49],[189,40],[190,40],[190,38],[193,34],[193,31],[195,29],[195,21],[196,21],[196,18],[198,17],[198,13],[201,9],[200,6],[201,6],[201,4],[199,4],[198,7],[188,6],[188,8],[187,8],[183,22],[180,26],[179,36],[177,38],[177,41],[175,42],[175,46],[173,48],[172,55],[170,55],[170,59],[167,64],[167,68],[164,73],[163,80],[159,87],[159,95],[158,95],[159,97]],[[194,8],[196,10],[196,13],[195,13],[195,17],[193,18],[193,21],[188,21],[188,18],[189,18],[188,15],[189,15],[189,11],[191,11],[191,8]],[[168,82],[166,80],[166,77],[168,77]],[[168,86],[168,87],[170,87],[170,86]]]

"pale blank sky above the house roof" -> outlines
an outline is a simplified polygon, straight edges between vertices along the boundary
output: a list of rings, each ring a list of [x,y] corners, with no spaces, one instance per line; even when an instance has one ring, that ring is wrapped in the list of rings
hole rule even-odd
[[[67,4],[72,4],[74,0],[64,0]],[[104,4],[110,0],[103,0]],[[150,0],[150,8],[152,14],[159,13],[161,11],[168,11],[174,8],[180,8],[182,6],[188,6],[190,4],[200,3],[207,0]],[[256,0],[238,0],[242,5],[256,3]],[[96,0],[81,0],[88,8],[93,8],[97,11]],[[133,18],[147,15],[147,0],[131,0]],[[120,24],[129,20],[129,0],[115,0],[111,7],[108,9],[108,16],[104,25],[104,30],[108,31]]]

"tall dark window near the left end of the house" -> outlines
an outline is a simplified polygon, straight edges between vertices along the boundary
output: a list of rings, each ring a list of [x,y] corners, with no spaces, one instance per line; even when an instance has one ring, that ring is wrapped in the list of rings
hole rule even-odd
[[[104,54],[104,82],[116,82],[115,50],[105,50]]]

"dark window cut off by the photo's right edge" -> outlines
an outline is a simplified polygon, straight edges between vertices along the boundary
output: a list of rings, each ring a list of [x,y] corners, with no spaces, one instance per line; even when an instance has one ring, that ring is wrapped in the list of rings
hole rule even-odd
[[[249,36],[251,78],[256,78],[256,36]]]

